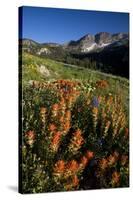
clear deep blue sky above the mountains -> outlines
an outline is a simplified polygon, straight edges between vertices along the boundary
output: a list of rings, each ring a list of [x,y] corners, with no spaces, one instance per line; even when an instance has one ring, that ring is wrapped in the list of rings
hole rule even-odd
[[[86,34],[129,32],[129,14],[23,7],[21,25],[21,38],[40,43],[66,43]]]

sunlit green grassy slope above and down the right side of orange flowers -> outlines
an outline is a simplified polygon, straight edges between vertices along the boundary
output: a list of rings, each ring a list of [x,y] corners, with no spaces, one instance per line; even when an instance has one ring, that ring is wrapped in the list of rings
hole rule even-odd
[[[78,79],[82,82],[96,82],[97,80],[104,79],[108,81],[110,86],[106,92],[121,95],[123,103],[128,108],[129,81],[126,78],[89,70],[83,67],[59,63],[46,58],[39,58],[27,53],[23,54],[22,61],[24,85],[29,80],[47,81],[55,79]],[[45,66],[49,70],[50,75],[45,76],[45,74],[41,74],[37,69],[40,66]]]

